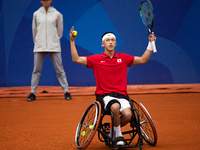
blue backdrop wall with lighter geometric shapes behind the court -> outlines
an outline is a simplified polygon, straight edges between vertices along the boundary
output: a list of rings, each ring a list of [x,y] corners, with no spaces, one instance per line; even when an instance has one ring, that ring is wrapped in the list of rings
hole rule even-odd
[[[101,35],[113,31],[116,52],[141,56],[148,31],[139,15],[141,0],[54,0],[64,17],[62,58],[69,86],[94,86],[91,69],[72,62],[69,31],[75,26],[80,55],[104,51]],[[145,65],[128,69],[128,84],[200,83],[200,0],[152,0],[157,50]],[[33,12],[40,0],[0,0],[0,86],[30,86],[33,71]],[[39,85],[57,86],[47,56]]]

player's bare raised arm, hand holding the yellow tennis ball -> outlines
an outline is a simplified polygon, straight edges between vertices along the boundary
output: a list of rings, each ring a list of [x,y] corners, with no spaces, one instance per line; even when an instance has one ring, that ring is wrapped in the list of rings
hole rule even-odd
[[[71,47],[71,55],[72,55],[72,61],[81,65],[87,65],[87,59],[84,56],[79,56],[76,45],[75,45],[75,39],[76,36],[74,37],[72,35],[72,31],[74,30],[74,27],[71,28],[70,30],[70,47]]]

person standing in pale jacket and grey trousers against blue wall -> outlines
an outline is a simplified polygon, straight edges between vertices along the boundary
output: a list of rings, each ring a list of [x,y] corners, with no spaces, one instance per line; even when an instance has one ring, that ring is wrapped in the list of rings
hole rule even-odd
[[[32,32],[34,41],[34,69],[31,79],[31,94],[27,101],[35,101],[44,58],[50,55],[65,99],[71,100],[68,82],[62,64],[60,38],[63,35],[63,16],[51,6],[52,0],[40,0],[40,7],[33,14]]]

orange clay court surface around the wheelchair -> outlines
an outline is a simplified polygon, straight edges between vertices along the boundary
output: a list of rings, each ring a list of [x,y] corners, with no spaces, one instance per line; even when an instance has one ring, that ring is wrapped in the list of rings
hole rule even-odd
[[[199,88],[199,85],[197,85]],[[27,102],[27,93],[0,97],[0,150],[76,150],[75,132],[85,108],[94,95],[75,94],[64,100],[61,94],[38,94]],[[30,90],[30,89],[28,89]],[[12,90],[11,90],[12,91]],[[48,91],[43,93],[48,93]],[[147,150],[200,149],[200,92],[140,93],[129,95],[144,104],[155,123],[158,143],[144,142]],[[95,135],[87,150],[111,150]],[[131,148],[138,149],[138,148]]]

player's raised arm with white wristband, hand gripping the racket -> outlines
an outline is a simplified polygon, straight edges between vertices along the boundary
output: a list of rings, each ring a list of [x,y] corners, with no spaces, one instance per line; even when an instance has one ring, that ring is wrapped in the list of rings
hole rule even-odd
[[[140,64],[145,64],[148,62],[149,58],[151,57],[153,47],[151,45],[152,41],[156,41],[156,37],[154,33],[149,35],[149,45],[146,49],[146,51],[143,53],[141,57],[135,56],[135,59],[133,61],[133,65],[140,65]]]

